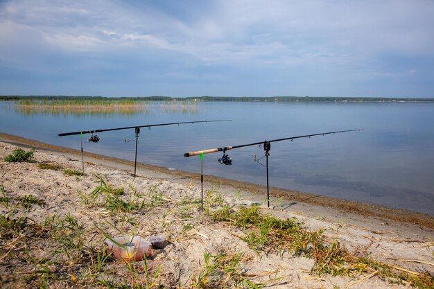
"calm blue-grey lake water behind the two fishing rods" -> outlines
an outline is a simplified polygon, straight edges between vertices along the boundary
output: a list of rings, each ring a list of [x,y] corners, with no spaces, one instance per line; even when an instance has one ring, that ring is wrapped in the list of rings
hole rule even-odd
[[[336,198],[372,202],[434,216],[434,105],[417,103],[199,103],[150,104],[137,114],[24,114],[0,102],[0,132],[80,149],[78,136],[60,132],[123,126],[232,119],[230,123],[142,129],[138,161],[200,172],[199,157],[184,152],[263,140],[364,128],[363,132],[272,143],[270,185]],[[102,132],[84,150],[134,160],[134,130]],[[88,137],[88,135],[85,135]],[[263,148],[230,150],[233,165],[205,155],[204,173],[266,183],[266,168],[253,161]],[[265,159],[262,160],[265,163]]]

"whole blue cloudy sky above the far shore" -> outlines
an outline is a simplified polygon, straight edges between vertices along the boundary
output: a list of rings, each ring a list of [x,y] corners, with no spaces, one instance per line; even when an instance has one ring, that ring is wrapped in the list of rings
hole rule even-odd
[[[434,97],[434,0],[0,0],[0,95]]]

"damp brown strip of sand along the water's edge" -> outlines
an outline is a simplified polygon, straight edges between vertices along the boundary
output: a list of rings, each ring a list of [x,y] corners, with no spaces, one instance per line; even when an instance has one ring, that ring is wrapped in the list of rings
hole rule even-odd
[[[35,148],[37,150],[45,150],[47,152],[60,152],[75,157],[80,157],[81,155],[80,150],[55,146],[49,143],[43,143],[41,141],[27,139],[2,132],[0,132],[0,141],[17,146],[26,146],[28,148]],[[119,166],[122,166],[123,169],[130,171],[132,171],[134,168],[134,161],[128,161],[116,157],[108,157],[106,155],[99,155],[92,152],[83,152],[83,155],[85,156],[85,162],[96,162],[98,164],[112,166],[114,168],[119,168]],[[191,179],[195,182],[200,182],[200,173],[190,173],[183,170],[168,170],[166,167],[153,166],[141,162],[137,162],[137,170],[153,171],[157,174],[164,174],[168,179]],[[238,181],[236,179],[226,179],[224,177],[216,177],[212,175],[204,175],[204,179],[205,183],[211,184],[211,186],[223,187],[223,191],[225,191],[225,193],[238,190],[240,193],[249,194],[251,199],[254,199],[256,202],[262,203],[265,200],[266,185],[252,184],[250,182]],[[279,198],[281,198],[279,201],[279,206],[286,209],[293,209],[295,207],[296,210],[305,210],[306,207],[310,206],[309,211],[312,213],[329,213],[330,216],[333,216],[336,213],[342,213],[344,215],[347,213],[354,213],[364,218],[381,218],[383,220],[391,220],[404,224],[410,223],[413,225],[426,227],[427,229],[434,229],[434,216],[430,216],[426,213],[385,207],[367,202],[342,200],[324,195],[316,195],[313,193],[305,193],[270,186],[271,203],[272,200],[276,201]],[[312,206],[315,206],[313,210]],[[273,206],[271,205],[270,207]],[[276,202],[275,207],[277,207]],[[341,217],[342,216],[337,216],[336,218]]]

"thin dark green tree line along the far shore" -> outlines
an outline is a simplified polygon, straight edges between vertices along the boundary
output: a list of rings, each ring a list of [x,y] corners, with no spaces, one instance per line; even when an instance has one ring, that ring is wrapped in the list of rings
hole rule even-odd
[[[106,96],[0,96],[0,100],[150,100],[150,101],[293,101],[293,102],[417,102],[433,103],[434,98],[383,98],[383,97],[334,97],[334,96],[190,96],[190,97],[170,97],[170,96],[137,96],[137,97],[106,97]]]

